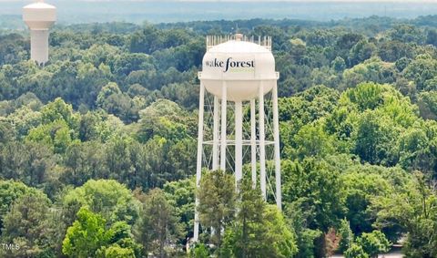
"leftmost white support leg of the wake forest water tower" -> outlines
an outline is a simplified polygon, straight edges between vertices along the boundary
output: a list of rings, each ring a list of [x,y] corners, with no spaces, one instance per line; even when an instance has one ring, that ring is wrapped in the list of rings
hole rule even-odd
[[[202,154],[203,154],[203,114],[204,114],[204,102],[205,102],[205,87],[200,84],[200,92],[198,97],[198,160],[196,168],[196,187],[200,184],[202,177]],[[196,211],[194,212],[194,241],[198,241],[198,197],[196,196]]]

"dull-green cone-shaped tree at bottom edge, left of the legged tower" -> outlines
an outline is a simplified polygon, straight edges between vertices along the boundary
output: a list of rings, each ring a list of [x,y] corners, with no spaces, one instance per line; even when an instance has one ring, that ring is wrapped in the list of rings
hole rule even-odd
[[[154,189],[144,197],[143,210],[136,226],[137,239],[143,244],[145,253],[169,257],[166,246],[175,243],[180,234],[178,218],[168,203],[164,191]]]

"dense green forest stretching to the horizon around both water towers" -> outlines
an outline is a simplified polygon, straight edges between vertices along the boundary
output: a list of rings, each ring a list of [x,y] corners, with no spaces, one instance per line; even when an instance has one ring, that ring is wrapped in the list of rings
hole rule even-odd
[[[195,187],[205,36],[236,24],[273,37],[282,212],[229,171]],[[436,24],[57,26],[45,67],[1,32],[0,256],[437,257]]]

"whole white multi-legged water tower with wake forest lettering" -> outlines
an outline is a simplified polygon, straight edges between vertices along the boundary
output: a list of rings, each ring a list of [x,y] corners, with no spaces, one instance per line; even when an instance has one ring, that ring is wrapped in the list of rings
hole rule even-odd
[[[260,187],[266,201],[272,195],[280,209],[279,73],[275,71],[271,37],[208,36],[198,78],[197,186],[202,168],[234,170],[238,182],[243,177],[243,162],[250,163],[253,186]],[[266,160],[274,160],[273,166],[267,166]],[[274,171],[269,173],[267,167],[274,167]],[[273,174],[275,182],[270,183]],[[272,190],[269,194],[268,185]],[[275,185],[274,191],[271,185]],[[198,231],[196,212],[194,241],[198,241]]]

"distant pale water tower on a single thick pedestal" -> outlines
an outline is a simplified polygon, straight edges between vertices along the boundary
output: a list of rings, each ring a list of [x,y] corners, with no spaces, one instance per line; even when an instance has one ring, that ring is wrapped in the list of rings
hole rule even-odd
[[[25,5],[23,20],[30,29],[30,58],[44,65],[48,61],[48,28],[56,21],[56,7],[43,0]]]

